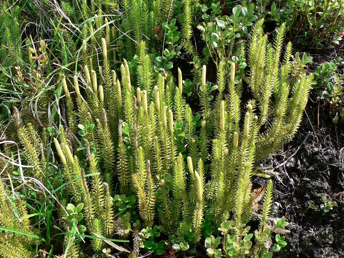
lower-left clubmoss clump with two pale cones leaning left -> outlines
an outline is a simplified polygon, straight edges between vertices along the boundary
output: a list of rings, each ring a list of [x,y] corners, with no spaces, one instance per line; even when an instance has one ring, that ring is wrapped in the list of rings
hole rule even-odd
[[[79,125],[79,127],[82,128],[82,131],[79,131],[79,135],[87,136],[89,133],[92,132],[92,130],[89,130],[89,128],[94,128],[94,125],[89,124],[88,120],[86,120],[85,126]],[[63,134],[61,134],[60,136],[62,135]],[[63,138],[61,140],[63,142]],[[87,184],[85,171],[83,168],[81,168],[78,158],[76,156],[73,157],[73,155],[69,153],[70,150],[68,146],[65,146],[66,156],[69,160],[67,161],[64,151],[62,149],[61,151],[59,151],[59,149],[61,148],[59,147],[60,144],[58,143],[56,138],[54,138],[57,152],[60,155],[62,163],[65,164],[64,174],[74,173],[73,178],[80,178],[74,182],[69,183],[68,186],[70,188],[68,190],[72,196],[79,196],[79,199],[77,199],[76,202],[83,201],[83,203],[85,204],[85,206],[83,205],[83,207],[85,211],[84,214],[87,228],[90,232],[94,232],[94,236],[108,236],[111,235],[115,230],[114,204],[112,202],[112,197],[110,196],[109,185],[102,182],[102,179],[104,179],[104,175],[99,175],[98,158],[94,153],[91,153],[90,142],[88,141],[88,138],[84,138],[83,140],[85,141],[86,146],[85,150],[87,163],[89,165],[88,169],[89,172],[93,174],[92,180],[90,182],[90,187]],[[71,179],[66,179],[66,181],[67,180]],[[83,203],[79,203],[79,205]],[[70,206],[72,205],[73,204],[70,204]],[[78,210],[78,206],[76,207],[76,210]],[[72,211],[73,209],[70,208],[70,210]],[[79,216],[79,214],[82,219],[82,213],[78,213],[77,217]],[[77,221],[81,219],[77,218]],[[69,225],[69,228],[71,228],[71,225]],[[100,250],[103,246],[103,241],[100,239],[93,239],[92,243],[95,250]]]

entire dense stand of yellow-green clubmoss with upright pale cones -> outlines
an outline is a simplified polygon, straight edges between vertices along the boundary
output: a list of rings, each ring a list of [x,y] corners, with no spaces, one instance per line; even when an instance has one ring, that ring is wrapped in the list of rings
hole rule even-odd
[[[21,162],[28,167],[22,177],[45,180],[49,191],[60,187],[54,194],[62,200],[58,211],[65,217],[65,231],[74,234],[87,229],[95,237],[91,245],[97,252],[108,243],[101,237],[112,238],[114,233],[126,237],[134,223],[134,246],[137,248],[141,241],[149,251],[185,251],[206,235],[210,239],[206,240],[211,249],[208,253],[214,256],[269,254],[271,234],[279,233],[277,228],[282,230],[285,224],[269,225],[272,181],[252,189],[251,179],[257,175],[269,177],[258,172],[256,162],[293,137],[313,80],[312,75],[293,70],[290,43],[282,56],[285,26],[278,30],[275,42],[268,43],[261,20],[254,26],[249,44],[234,46],[239,26],[251,26],[257,17],[246,7],[236,7],[233,17],[215,20],[221,8],[214,4],[203,37],[216,49],[208,45],[206,58],[212,56],[216,64],[218,85],[207,82],[209,72],[205,65],[201,69],[201,62],[195,58],[195,93],[200,97],[200,107],[195,108],[185,99],[182,69],[178,70],[178,79],[171,72],[173,58],[180,54],[181,47],[174,42],[179,35],[188,53],[194,54],[193,2],[182,3],[181,34],[175,19],[164,23],[167,35],[163,44],[169,46],[164,57],[154,61],[147,51],[153,46],[145,35],[153,33],[152,27],[166,21],[170,12],[173,15],[172,2],[126,0],[120,4],[125,9],[121,25],[127,36],[117,39],[118,31],[112,27],[110,34],[109,22],[101,15],[108,7],[101,2],[97,7],[91,1],[91,10],[87,11],[84,4],[82,12],[92,13],[94,19],[83,26],[84,41],[76,51],[80,60],[75,67],[81,67],[81,71],[69,74],[65,69],[56,76],[56,97],[52,97],[56,104],[51,104],[49,95],[37,100],[43,105],[36,107],[33,118],[28,115],[32,114],[28,104],[24,103],[20,111],[13,108],[15,119],[6,121],[12,128],[7,137],[19,140]],[[62,6],[73,14],[69,2]],[[217,35],[213,31],[209,34],[208,29]],[[227,29],[233,31],[227,34]],[[114,62],[112,44],[118,45],[121,65]],[[222,44],[226,47],[221,48]],[[39,51],[29,52],[44,81],[48,79],[44,76],[49,62],[45,53],[44,41]],[[238,60],[231,60],[234,53],[239,54]],[[36,60],[38,54],[42,54],[42,62]],[[41,85],[39,78],[36,75],[31,83]],[[20,73],[16,80],[29,84]],[[248,98],[242,94],[244,87],[250,93]],[[216,90],[218,94],[213,94]],[[63,104],[66,112],[61,112]],[[12,147],[4,150],[9,157],[15,151]],[[55,175],[54,171],[59,173]],[[37,198],[46,202],[43,197]],[[254,246],[250,240],[253,233],[246,226],[252,218],[260,221]],[[211,227],[218,228],[222,240],[210,236]],[[154,237],[165,233],[168,241],[158,245],[148,235],[151,231]],[[68,256],[80,256],[85,236],[79,237],[64,237]],[[221,241],[223,250],[218,250]],[[283,241],[277,237],[273,250],[285,246]]]

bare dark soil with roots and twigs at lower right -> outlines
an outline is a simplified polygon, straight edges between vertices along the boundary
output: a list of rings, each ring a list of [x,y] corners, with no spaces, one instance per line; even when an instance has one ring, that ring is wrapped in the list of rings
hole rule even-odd
[[[303,131],[267,161],[279,173],[271,216],[285,216],[291,231],[276,257],[344,257],[344,144],[338,143],[325,129]],[[328,201],[338,206],[323,213],[320,205]]]

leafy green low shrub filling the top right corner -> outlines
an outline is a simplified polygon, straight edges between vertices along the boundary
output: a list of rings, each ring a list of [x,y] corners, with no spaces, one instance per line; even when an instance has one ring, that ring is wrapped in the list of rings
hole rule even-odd
[[[344,35],[344,3],[341,0],[288,0],[275,3],[266,16],[279,26],[286,23],[297,43],[321,48],[338,44]]]

